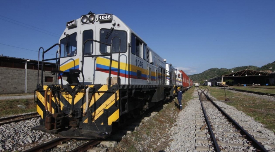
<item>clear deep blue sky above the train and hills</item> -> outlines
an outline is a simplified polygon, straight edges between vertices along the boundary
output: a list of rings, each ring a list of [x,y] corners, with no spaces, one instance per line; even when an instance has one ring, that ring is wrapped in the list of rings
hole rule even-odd
[[[274,8],[274,0],[1,0],[0,54],[37,59],[39,47],[58,43],[66,22],[92,11],[118,16],[150,48],[188,74],[260,67],[275,61]]]

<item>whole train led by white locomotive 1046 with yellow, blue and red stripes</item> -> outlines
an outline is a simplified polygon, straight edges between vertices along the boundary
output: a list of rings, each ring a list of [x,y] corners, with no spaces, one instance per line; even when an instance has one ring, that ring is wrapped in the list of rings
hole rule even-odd
[[[45,59],[55,46],[56,58]],[[104,139],[130,118],[173,98],[176,88],[193,85],[113,14],[82,15],[66,24],[59,43],[40,50],[41,84],[35,94],[42,119],[32,129],[61,138]],[[45,61],[56,61],[55,84],[43,85]]]

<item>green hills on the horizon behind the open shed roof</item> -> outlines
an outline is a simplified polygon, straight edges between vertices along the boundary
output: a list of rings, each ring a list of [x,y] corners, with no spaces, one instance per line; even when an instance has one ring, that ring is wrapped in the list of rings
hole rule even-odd
[[[190,79],[192,79],[195,82],[201,82],[203,80],[207,80],[210,78],[215,78],[215,77],[219,77],[221,75],[229,74],[232,71],[237,72],[237,71],[245,70],[245,69],[262,71],[262,72],[272,72],[272,71],[275,71],[275,61],[272,63],[268,63],[262,67],[248,65],[248,66],[235,67],[235,68],[231,68],[231,69],[211,68],[211,69],[203,71],[202,73],[199,73],[199,74],[188,75],[188,77],[190,77]]]

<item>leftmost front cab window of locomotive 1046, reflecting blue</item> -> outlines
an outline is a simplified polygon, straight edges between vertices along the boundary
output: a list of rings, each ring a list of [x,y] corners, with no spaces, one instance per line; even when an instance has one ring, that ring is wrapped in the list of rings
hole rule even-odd
[[[60,40],[61,58],[76,55],[76,40],[77,33],[67,35],[65,38]]]

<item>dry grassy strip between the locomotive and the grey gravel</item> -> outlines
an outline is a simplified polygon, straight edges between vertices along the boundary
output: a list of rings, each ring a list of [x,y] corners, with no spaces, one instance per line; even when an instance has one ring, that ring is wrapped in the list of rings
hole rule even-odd
[[[192,94],[195,87],[190,88],[183,93],[182,106],[185,108],[188,101],[192,99]],[[168,139],[170,137],[169,129],[176,122],[178,116],[178,101],[168,103],[168,105],[159,111],[157,115],[147,120],[137,131],[132,134],[127,134],[126,138],[122,139],[119,144],[110,152],[138,152],[138,151],[152,151],[159,152],[166,149]],[[157,145],[161,139],[164,141]]]

